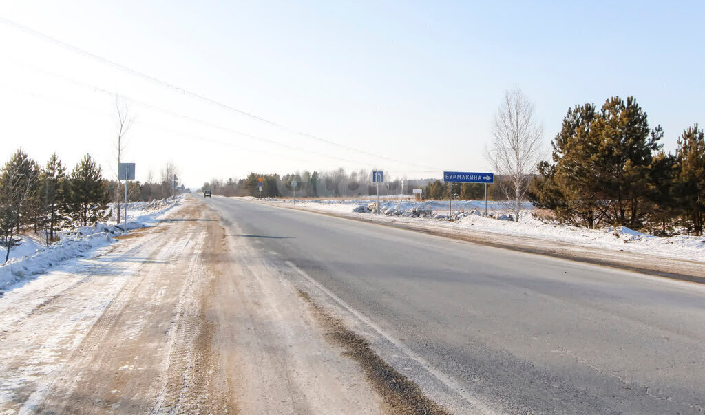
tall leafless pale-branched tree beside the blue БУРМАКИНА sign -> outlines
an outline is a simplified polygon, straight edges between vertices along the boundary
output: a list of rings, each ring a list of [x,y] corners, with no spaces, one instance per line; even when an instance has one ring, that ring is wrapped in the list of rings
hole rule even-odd
[[[522,216],[522,202],[537,164],[541,161],[544,129],[534,118],[534,104],[520,89],[504,94],[492,120],[491,147],[486,158],[498,176],[496,185],[510,200],[515,221]]]

